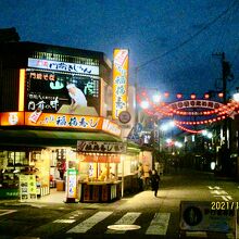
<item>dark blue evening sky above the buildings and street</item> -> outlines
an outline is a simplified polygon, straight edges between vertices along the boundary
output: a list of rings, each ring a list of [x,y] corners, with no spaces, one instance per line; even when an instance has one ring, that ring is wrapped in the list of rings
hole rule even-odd
[[[239,86],[239,0],[0,0],[0,28],[22,41],[129,49],[129,83],[172,95],[221,89],[225,52]],[[216,87],[216,88],[215,88]]]

